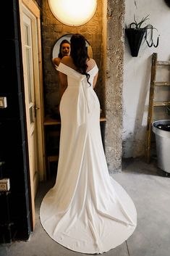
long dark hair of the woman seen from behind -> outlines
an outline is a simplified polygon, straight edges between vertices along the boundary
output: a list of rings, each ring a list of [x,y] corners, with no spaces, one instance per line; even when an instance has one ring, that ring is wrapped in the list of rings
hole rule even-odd
[[[86,72],[88,65],[86,64],[88,57],[88,50],[85,45],[85,37],[76,33],[71,37],[71,51],[70,55],[73,59],[77,71],[82,75],[86,75],[87,80],[89,80],[90,75]],[[88,81],[89,83],[89,81]],[[90,84],[90,83],[89,83]]]

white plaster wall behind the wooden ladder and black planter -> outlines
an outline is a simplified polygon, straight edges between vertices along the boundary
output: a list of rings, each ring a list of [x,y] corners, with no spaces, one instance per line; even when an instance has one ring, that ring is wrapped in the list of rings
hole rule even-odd
[[[166,3],[163,0],[125,0],[124,27],[133,22],[134,15],[139,21],[150,15],[144,25],[149,22],[156,27],[155,44],[158,34],[160,40],[158,48],[149,48],[143,40],[138,56],[132,57],[127,37],[124,39],[123,157],[144,154],[151,55],[157,52],[158,60],[170,59],[170,8]]]

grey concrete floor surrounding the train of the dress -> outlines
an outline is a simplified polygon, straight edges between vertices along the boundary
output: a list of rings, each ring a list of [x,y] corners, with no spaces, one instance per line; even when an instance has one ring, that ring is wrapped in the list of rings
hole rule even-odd
[[[137,228],[122,245],[104,253],[106,256],[170,255],[170,176],[156,167],[156,162],[124,160],[122,173],[112,175],[132,197],[137,208]],[[36,197],[36,226],[29,241],[3,244],[0,256],[78,256],[53,241],[43,230],[39,207],[51,182],[41,183]]]

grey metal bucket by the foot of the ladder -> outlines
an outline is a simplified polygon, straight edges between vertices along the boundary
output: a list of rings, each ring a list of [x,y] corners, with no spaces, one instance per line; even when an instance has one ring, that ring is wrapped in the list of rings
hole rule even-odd
[[[170,120],[158,120],[153,122],[152,130],[156,135],[156,153],[158,168],[170,173],[170,131],[163,131],[157,125],[169,125]]]

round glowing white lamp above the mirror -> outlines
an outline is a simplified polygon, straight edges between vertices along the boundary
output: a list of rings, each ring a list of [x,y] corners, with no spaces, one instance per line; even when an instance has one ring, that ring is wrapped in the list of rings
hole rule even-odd
[[[48,0],[48,4],[57,20],[71,26],[88,22],[97,8],[97,0]]]

